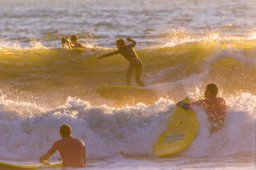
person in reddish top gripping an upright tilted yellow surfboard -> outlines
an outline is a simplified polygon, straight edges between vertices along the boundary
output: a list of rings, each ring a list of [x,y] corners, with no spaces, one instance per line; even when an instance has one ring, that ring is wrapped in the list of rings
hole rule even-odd
[[[192,109],[195,105],[200,106],[206,112],[209,122],[211,122],[209,131],[213,133],[224,127],[224,119],[227,116],[226,102],[223,98],[217,97],[217,94],[218,87],[211,83],[207,85],[205,90],[205,99],[200,99],[191,104],[180,101],[177,105],[184,109]]]

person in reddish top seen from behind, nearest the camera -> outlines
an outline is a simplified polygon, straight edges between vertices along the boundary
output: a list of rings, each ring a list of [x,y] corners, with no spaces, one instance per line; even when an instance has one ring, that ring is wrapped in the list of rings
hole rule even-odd
[[[71,136],[72,129],[64,124],[60,128],[61,139],[56,141],[52,147],[40,157],[40,162],[44,163],[49,156],[59,150],[63,167],[84,167],[85,166],[85,146],[82,140]]]

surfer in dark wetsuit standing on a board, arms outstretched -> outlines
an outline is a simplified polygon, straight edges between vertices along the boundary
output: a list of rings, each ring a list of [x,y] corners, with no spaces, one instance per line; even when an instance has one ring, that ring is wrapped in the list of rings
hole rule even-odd
[[[115,54],[121,54],[130,62],[130,66],[128,68],[128,71],[126,73],[126,82],[128,85],[131,85],[131,75],[135,71],[136,74],[136,82],[139,86],[145,86],[144,83],[141,81],[141,75],[143,71],[143,64],[141,59],[138,58],[137,53],[134,51],[134,47],[136,46],[137,42],[132,40],[130,37],[126,38],[127,41],[131,42],[129,45],[125,45],[125,41],[123,39],[118,39],[116,41],[116,47],[118,50],[113,51],[109,54],[104,54],[98,59],[102,59],[104,57],[109,57],[111,55]]]

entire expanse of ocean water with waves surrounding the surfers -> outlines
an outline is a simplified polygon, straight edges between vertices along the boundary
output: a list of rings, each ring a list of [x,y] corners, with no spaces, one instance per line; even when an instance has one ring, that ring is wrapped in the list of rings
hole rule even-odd
[[[38,162],[69,123],[87,147],[81,169],[255,169],[255,7],[253,0],[0,0],[0,161]],[[72,34],[93,50],[61,48]],[[96,93],[125,84],[123,57],[96,59],[125,37],[137,41],[153,99]],[[154,156],[177,101],[201,99],[210,82],[227,102],[225,127],[210,135],[198,110],[189,147]]]

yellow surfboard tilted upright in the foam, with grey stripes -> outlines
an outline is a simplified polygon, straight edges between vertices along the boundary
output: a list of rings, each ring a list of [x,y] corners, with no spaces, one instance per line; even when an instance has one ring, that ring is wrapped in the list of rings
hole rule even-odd
[[[189,98],[183,99],[189,103]],[[180,106],[168,117],[166,131],[154,145],[156,156],[169,156],[185,149],[195,138],[199,122],[196,119],[195,111],[185,110]]]

